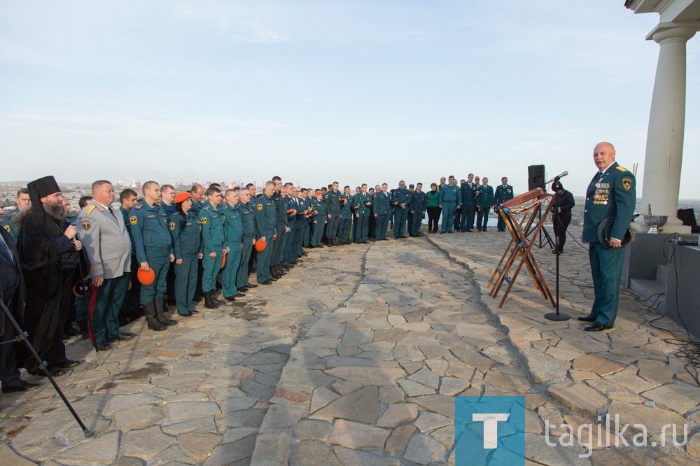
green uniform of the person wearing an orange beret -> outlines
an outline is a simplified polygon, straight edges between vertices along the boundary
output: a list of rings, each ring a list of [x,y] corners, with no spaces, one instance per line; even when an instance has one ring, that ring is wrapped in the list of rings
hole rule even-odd
[[[173,239],[175,263],[175,304],[177,313],[187,316],[195,311],[192,300],[197,290],[197,267],[202,253],[202,227],[197,213],[191,209],[186,215],[176,212],[170,216],[169,229]]]

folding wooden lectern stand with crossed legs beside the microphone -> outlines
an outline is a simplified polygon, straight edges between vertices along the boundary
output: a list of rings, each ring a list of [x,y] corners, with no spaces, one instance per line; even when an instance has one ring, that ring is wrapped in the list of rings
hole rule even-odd
[[[542,297],[549,299],[549,302],[552,302],[552,306],[556,307],[552,292],[549,291],[545,277],[542,276],[542,271],[532,253],[535,241],[542,231],[542,225],[544,225],[547,215],[552,209],[552,205],[549,202],[551,197],[552,195],[547,194],[542,188],[535,188],[498,206],[498,215],[505,221],[505,226],[511,236],[510,242],[500,257],[500,261],[493,271],[488,285],[488,288],[491,288],[489,295],[496,298],[503,287],[503,283],[507,283],[503,298],[500,299],[498,304],[499,308],[503,308],[503,304],[523,266],[528,270],[535,283],[535,288],[542,294]],[[544,212],[542,212],[543,208]],[[521,214],[522,216],[518,220],[517,216]],[[528,239],[531,233],[531,239]],[[517,267],[512,276],[510,276],[510,271],[518,258]]]

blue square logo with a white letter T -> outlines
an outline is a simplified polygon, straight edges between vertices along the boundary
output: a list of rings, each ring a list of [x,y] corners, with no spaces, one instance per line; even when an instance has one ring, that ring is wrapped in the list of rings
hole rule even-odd
[[[525,397],[454,397],[455,463],[523,466]]]

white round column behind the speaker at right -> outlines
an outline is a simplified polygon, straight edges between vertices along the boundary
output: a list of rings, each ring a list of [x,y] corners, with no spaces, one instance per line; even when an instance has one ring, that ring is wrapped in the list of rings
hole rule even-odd
[[[651,204],[654,215],[668,216],[664,233],[690,232],[677,215],[685,133],[685,45],[695,33],[695,27],[682,26],[650,34],[661,47],[649,116],[640,212],[647,213],[647,205]],[[642,217],[635,226],[640,231],[648,229]]]

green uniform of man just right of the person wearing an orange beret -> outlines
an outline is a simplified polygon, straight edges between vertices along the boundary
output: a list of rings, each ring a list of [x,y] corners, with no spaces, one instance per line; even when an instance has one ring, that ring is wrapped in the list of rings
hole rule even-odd
[[[209,202],[204,203],[200,211],[202,224],[202,291],[207,295],[216,292],[216,276],[221,271],[221,256],[223,255],[223,217],[218,209]],[[209,254],[216,253],[211,257]]]

